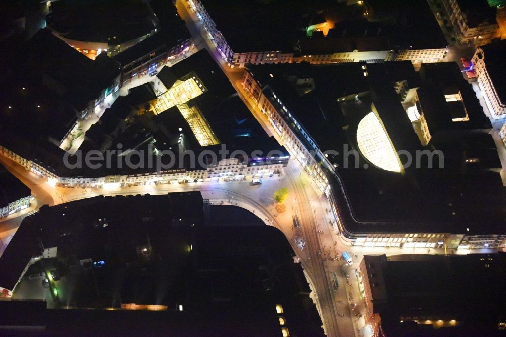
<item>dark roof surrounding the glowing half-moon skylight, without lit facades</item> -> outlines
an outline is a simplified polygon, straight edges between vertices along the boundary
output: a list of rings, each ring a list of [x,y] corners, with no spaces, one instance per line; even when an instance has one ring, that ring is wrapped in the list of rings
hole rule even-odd
[[[450,74],[455,65],[449,64]],[[363,75],[362,66],[366,67],[368,76]],[[490,144],[480,147],[469,138],[470,135],[465,136],[471,132],[485,132],[489,123],[483,121],[477,108],[472,108],[472,104],[476,103],[476,97],[473,100],[468,91],[469,85],[463,82],[460,71],[458,77],[452,75],[446,81],[442,81],[430,74],[432,71],[437,72],[439,68],[428,65],[431,71],[426,71],[424,78],[427,83],[423,84],[425,82],[408,61],[378,64],[249,65],[248,69],[264,88],[264,94],[268,99],[278,106],[278,111],[283,111],[282,105],[285,106],[286,112],[281,112],[282,118],[288,123],[293,123],[292,118],[300,122],[303,129],[300,131],[299,139],[306,142],[307,148],[311,148],[312,144],[304,138],[306,131],[308,137],[322,151],[333,149],[340,152],[340,155],[328,157],[331,163],[339,165],[337,171],[340,181],[329,179],[334,185],[334,191],[344,189],[346,193],[347,199],[340,195],[341,192],[336,192],[338,194],[336,198],[343,204],[349,202],[349,208],[341,208],[343,212],[341,216],[345,227],[351,232],[468,233],[467,228],[470,229],[469,233],[474,234],[504,232],[504,220],[500,220],[505,214],[504,209],[490,206],[484,207],[487,210],[477,210],[472,206],[477,195],[492,200],[502,198],[506,191],[498,179],[499,173],[487,171],[488,168],[497,165],[497,154],[489,151]],[[445,69],[442,67],[441,72],[448,72]],[[432,84],[430,78],[433,80]],[[444,154],[442,159],[444,168],[428,169],[428,163],[421,160],[418,167],[411,165],[406,168],[404,174],[371,166],[364,170],[362,164],[367,161],[362,157],[360,167],[353,168],[354,156],[346,158],[343,155],[343,146],[349,145],[356,149],[357,125],[371,111],[371,104],[376,106],[396,150],[407,150],[415,158],[413,151],[424,149],[394,90],[395,82],[402,80],[408,81],[409,88],[423,85],[420,89],[421,96],[424,96],[425,89],[430,91],[427,97],[424,96],[423,108],[434,105],[436,113],[432,115],[431,123],[439,125],[443,131],[458,132],[455,135],[449,134],[451,137],[447,143],[451,143],[452,146],[443,147],[444,142],[441,142],[441,145],[437,143],[436,148],[441,149]],[[435,83],[437,86],[434,86]],[[455,87],[459,88],[465,103],[470,102],[468,110],[470,123],[451,121],[441,89],[450,85],[453,86],[452,90]],[[355,98],[356,95],[358,96]],[[338,103],[338,99],[343,98],[345,101]],[[439,110],[438,102],[446,110]],[[444,117],[446,127],[441,127],[442,122],[438,121],[440,117]],[[472,118],[477,122],[473,122]],[[453,130],[452,124],[458,123],[465,123],[463,124],[465,126]],[[480,151],[482,153],[478,155]],[[465,159],[474,158],[473,155],[483,162],[476,165],[466,163]],[[349,165],[346,169],[345,162]],[[437,158],[432,167],[439,167]],[[361,183],[357,184],[357,181]],[[494,204],[493,201],[490,202],[491,205]],[[452,206],[448,206],[449,204]],[[348,212],[350,213],[345,214]],[[348,216],[350,218],[347,218]],[[489,216],[496,220],[493,222],[485,220]],[[385,226],[380,229],[381,224]]]

